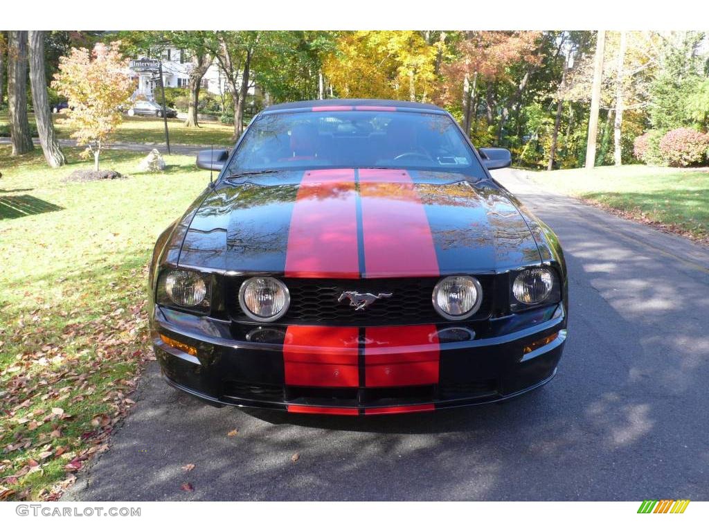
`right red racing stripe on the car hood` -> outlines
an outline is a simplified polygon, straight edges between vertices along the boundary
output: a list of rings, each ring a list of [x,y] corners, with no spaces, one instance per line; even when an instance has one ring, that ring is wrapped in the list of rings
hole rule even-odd
[[[425,209],[405,170],[359,170],[364,235],[362,277],[437,277]]]

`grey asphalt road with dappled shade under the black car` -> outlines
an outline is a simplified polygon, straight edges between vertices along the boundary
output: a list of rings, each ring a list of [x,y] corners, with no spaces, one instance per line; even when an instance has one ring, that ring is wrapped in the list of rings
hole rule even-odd
[[[65,500],[709,499],[709,251],[523,175],[496,177],[569,266],[569,340],[546,387],[432,414],[289,416],[205,406],[154,363]]]

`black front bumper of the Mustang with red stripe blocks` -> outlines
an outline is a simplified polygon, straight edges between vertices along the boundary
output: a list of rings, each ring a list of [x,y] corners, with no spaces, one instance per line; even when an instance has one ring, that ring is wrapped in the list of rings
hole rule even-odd
[[[269,326],[242,336],[232,323],[160,306],[150,317],[172,386],[216,406],[309,414],[396,414],[509,399],[554,377],[566,341],[562,304],[471,324],[465,340],[451,332],[456,324]]]

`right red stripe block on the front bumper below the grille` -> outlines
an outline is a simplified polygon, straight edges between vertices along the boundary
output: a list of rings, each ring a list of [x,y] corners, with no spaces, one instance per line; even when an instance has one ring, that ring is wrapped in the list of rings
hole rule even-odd
[[[438,384],[440,349],[435,325],[367,327],[364,385]]]

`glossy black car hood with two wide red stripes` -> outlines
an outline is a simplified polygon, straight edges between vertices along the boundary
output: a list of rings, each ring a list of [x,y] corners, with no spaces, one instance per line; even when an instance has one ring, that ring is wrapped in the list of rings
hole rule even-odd
[[[431,277],[540,262],[490,179],[337,169],[222,182],[184,220],[179,265],[288,277]]]

